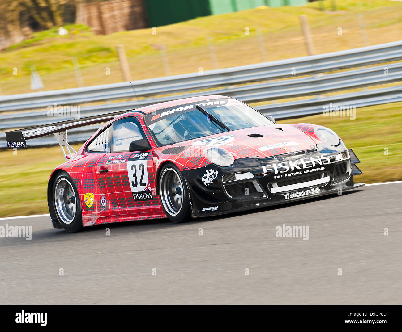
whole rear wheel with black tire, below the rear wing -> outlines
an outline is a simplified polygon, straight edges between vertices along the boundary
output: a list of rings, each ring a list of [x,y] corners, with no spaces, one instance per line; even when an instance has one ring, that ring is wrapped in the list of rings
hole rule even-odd
[[[70,233],[82,226],[80,196],[74,181],[66,172],[60,172],[53,182],[53,208],[63,228]]]

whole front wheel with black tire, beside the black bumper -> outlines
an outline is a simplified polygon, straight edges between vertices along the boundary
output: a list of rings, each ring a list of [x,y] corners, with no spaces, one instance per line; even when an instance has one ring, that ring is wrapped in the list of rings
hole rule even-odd
[[[158,191],[162,208],[173,222],[191,219],[189,191],[180,170],[172,163],[166,163],[159,172]]]

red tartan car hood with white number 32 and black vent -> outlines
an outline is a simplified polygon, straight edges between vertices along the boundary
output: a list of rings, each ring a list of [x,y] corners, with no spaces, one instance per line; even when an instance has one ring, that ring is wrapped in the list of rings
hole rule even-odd
[[[174,153],[180,147],[206,149],[219,147],[235,158],[264,158],[316,147],[310,136],[288,124],[275,124],[222,132],[198,139],[158,148],[163,154]]]

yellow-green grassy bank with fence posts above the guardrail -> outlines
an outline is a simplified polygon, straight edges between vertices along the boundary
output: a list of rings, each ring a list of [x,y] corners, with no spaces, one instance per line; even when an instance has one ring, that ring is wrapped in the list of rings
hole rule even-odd
[[[131,79],[166,75],[160,44],[166,47],[172,75],[197,72],[199,68],[214,69],[208,38],[216,53],[215,66],[219,68],[304,56],[301,14],[308,17],[316,53],[365,46],[357,13],[363,14],[371,45],[401,38],[402,2],[337,0],[336,4],[336,12],[330,11],[327,0],[324,12],[318,10],[318,2],[313,2],[300,7],[256,8],[200,17],[158,27],[156,34],[150,28],[97,36],[80,25],[66,26],[68,35],[59,35],[57,28],[42,31],[0,53],[1,93],[29,92],[33,65],[41,75],[43,90],[77,87],[74,57],[86,86],[122,81],[118,44],[125,47]],[[260,51],[257,30],[263,34],[266,57]]]

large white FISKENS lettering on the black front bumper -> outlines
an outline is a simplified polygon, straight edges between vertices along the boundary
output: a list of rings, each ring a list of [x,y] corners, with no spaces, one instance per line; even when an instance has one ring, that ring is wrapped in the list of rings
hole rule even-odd
[[[280,163],[274,163],[270,165],[261,166],[263,168],[264,175],[268,175],[269,171],[275,171],[275,174],[287,173],[289,171],[295,171],[294,175],[299,174],[297,170],[309,169],[311,167],[316,167],[317,165],[327,165],[330,163],[330,159],[324,155],[314,157],[300,158],[296,160],[281,161]],[[318,170],[318,169],[316,169]],[[302,171],[303,173],[310,173],[310,171]]]

